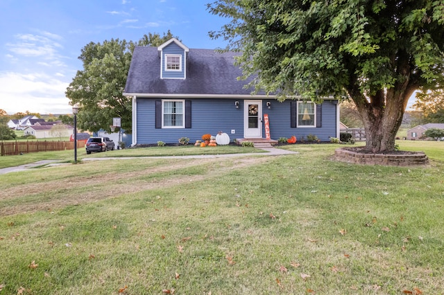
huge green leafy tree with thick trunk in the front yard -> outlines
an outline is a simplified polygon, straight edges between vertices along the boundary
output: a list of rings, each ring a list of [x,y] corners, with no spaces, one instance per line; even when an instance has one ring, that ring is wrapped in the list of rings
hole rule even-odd
[[[443,0],[217,0],[231,21],[210,37],[242,51],[250,85],[280,100],[350,98],[364,121],[366,149],[395,149],[415,89],[443,84]]]

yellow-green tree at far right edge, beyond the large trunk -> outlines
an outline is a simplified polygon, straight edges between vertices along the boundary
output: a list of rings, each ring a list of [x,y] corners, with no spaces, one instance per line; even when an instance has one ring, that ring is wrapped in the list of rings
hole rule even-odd
[[[444,123],[444,89],[418,92],[413,107],[422,111],[427,123]]]

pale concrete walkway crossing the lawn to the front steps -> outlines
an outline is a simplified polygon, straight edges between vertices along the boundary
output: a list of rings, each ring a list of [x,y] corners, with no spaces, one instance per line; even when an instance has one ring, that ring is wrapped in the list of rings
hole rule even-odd
[[[215,159],[215,158],[233,158],[248,156],[280,156],[284,154],[299,154],[290,150],[281,150],[275,147],[263,147],[260,150],[266,152],[248,153],[248,154],[194,154],[189,156],[156,156],[156,157],[103,157],[103,158],[83,158],[81,161],[103,161],[103,160],[126,160],[126,159]],[[42,160],[35,163],[28,163],[21,166],[0,169],[0,175],[9,172],[25,171],[37,166],[57,166],[58,160]],[[67,164],[67,163],[63,163]]]

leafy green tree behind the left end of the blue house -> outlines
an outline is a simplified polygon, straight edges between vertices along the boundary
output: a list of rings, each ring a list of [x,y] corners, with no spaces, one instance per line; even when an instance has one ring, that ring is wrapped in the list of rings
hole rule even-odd
[[[69,84],[66,96],[71,105],[78,104],[78,128],[97,132],[103,128],[110,131],[112,118],[121,118],[121,127],[131,132],[131,98],[123,96],[126,76],[130,68],[135,46],[159,46],[171,39],[170,31],[144,35],[139,42],[111,39],[103,43],[90,42],[78,57],[83,70]]]

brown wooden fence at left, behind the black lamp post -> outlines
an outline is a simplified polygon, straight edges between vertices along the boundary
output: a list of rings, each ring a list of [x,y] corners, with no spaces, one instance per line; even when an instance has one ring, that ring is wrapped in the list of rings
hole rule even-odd
[[[77,141],[77,148],[85,147],[85,141]],[[28,154],[29,152],[50,152],[74,150],[74,141],[1,141],[0,156]]]

